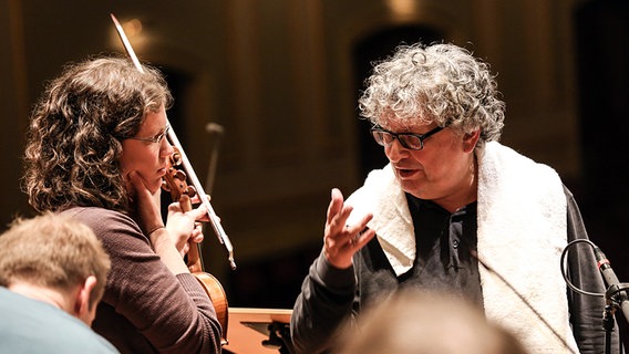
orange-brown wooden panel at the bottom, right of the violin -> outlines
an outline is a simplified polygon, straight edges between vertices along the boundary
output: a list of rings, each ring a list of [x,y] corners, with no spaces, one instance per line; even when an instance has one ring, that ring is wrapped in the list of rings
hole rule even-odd
[[[292,310],[229,308],[225,353],[277,354],[285,345]]]

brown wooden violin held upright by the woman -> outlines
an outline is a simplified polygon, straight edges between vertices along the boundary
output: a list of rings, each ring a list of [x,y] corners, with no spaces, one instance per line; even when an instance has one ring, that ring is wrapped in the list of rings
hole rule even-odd
[[[164,176],[162,189],[171,192],[173,200],[178,200],[184,212],[193,209],[192,199],[197,195],[193,186],[186,183],[187,175],[183,170],[176,168],[182,164],[182,154],[178,147],[173,146],[175,153],[168,158],[168,168]],[[227,296],[220,282],[210,273],[205,272],[203,258],[200,257],[200,243],[190,244],[187,254],[187,266],[190,273],[199,281],[206,294],[212,300],[218,322],[223,327],[220,344],[227,344],[227,322],[229,317],[229,305]]]

